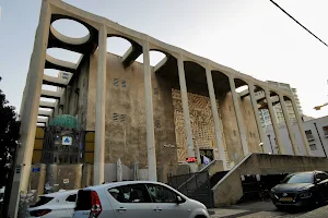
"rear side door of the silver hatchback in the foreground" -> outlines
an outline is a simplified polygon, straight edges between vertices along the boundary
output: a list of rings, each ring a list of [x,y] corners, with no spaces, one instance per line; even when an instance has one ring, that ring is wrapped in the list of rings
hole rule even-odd
[[[153,218],[151,198],[144,184],[110,187],[107,190],[107,193],[116,218]]]

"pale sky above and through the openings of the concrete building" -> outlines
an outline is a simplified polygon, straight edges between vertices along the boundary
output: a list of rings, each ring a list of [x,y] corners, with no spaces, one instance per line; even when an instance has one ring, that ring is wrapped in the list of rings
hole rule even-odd
[[[0,88],[20,109],[42,0],[0,0]],[[242,73],[278,81],[297,88],[303,111],[328,101],[328,47],[301,28],[269,0],[65,0]],[[307,28],[328,43],[327,0],[276,0]],[[72,37],[84,27],[65,21],[55,28]],[[107,40],[107,51],[122,55],[129,44]],[[60,49],[47,52],[77,61],[79,56]],[[151,53],[154,64],[161,56]],[[141,60],[141,59],[139,59]],[[54,75],[54,71],[45,72]]]

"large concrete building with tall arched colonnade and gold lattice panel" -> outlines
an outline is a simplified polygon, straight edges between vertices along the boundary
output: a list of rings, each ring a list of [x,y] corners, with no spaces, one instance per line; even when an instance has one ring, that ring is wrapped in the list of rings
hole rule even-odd
[[[89,34],[71,38],[59,33],[52,23],[63,19],[85,26]],[[122,57],[108,53],[108,37],[126,39],[131,47]],[[79,52],[82,58],[78,63],[59,60],[47,53],[48,48]],[[153,51],[164,53],[165,58],[151,66]],[[143,63],[136,62],[141,55]],[[71,77],[46,75],[45,69],[68,72]],[[60,89],[46,90],[42,85]],[[236,92],[245,85],[247,93]],[[262,92],[260,98],[255,95],[258,92]],[[56,101],[46,101],[46,98]],[[292,152],[281,141],[273,109],[277,102],[282,106]],[[300,129],[300,146],[292,132],[289,104]],[[39,108],[50,109],[50,113],[40,118],[38,116],[45,112]],[[138,161],[140,179],[165,181],[168,173],[180,172],[179,162],[191,158],[200,164],[200,156],[204,154],[219,160],[223,170],[230,170],[251,153],[270,153],[259,109],[269,111],[280,155],[311,155],[297,102],[290,90],[66,2],[43,0],[20,112],[22,146],[10,214],[14,215],[17,208],[19,193],[28,189],[32,165],[43,164],[45,159],[34,158],[33,162],[37,124],[45,125],[47,131],[48,123],[63,114],[79,121],[82,129],[79,132],[86,136],[82,143],[83,158],[77,161],[92,165],[91,184],[113,181],[113,165],[118,159],[127,171]],[[47,153],[38,154],[49,154],[48,148],[51,146]],[[51,158],[55,161],[55,157]],[[198,171],[197,164],[189,164],[189,171]],[[126,179],[131,179],[129,177],[127,173]]]

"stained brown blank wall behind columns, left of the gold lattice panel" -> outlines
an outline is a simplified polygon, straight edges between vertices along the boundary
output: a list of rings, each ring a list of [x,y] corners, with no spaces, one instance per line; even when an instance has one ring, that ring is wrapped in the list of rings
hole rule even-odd
[[[87,131],[94,131],[95,128],[96,73],[97,52],[90,59]],[[172,94],[169,86],[163,82],[163,78],[154,74],[152,75],[152,87],[157,177],[160,181],[163,181],[166,178],[166,172],[174,172],[177,166]],[[156,95],[154,95],[154,88],[156,88]],[[134,160],[138,160],[140,169],[147,169],[142,64],[134,62],[128,69],[124,69],[120,57],[107,53],[106,89],[105,164],[116,164],[117,159],[120,158],[124,166],[131,168]],[[110,169],[106,165],[105,171]]]

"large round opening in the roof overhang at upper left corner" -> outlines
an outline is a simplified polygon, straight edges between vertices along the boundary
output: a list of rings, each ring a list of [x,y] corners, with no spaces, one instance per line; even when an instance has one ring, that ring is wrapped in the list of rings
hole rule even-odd
[[[60,19],[52,24],[54,28],[63,36],[70,38],[84,38],[89,36],[89,29],[81,23],[69,19]]]

